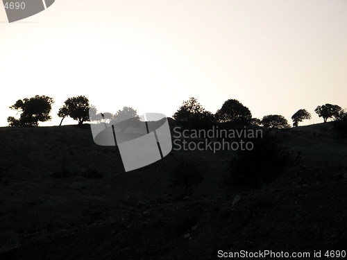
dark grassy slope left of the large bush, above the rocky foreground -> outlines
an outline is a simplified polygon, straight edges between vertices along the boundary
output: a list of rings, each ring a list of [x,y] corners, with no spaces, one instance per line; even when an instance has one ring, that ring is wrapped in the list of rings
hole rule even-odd
[[[89,125],[0,128],[0,251],[34,234],[91,225],[138,202],[171,201],[171,171],[181,158],[208,177],[197,196],[214,198],[228,153],[172,151],[144,168],[124,172],[115,146],[97,146]],[[213,153],[212,153],[213,155]]]

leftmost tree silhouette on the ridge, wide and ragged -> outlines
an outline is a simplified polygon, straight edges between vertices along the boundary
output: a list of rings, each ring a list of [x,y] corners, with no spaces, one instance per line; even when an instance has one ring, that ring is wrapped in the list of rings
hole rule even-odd
[[[19,119],[8,116],[10,126],[38,126],[39,122],[51,120],[49,113],[54,103],[49,96],[34,96],[33,98],[19,99],[10,109],[21,112]]]

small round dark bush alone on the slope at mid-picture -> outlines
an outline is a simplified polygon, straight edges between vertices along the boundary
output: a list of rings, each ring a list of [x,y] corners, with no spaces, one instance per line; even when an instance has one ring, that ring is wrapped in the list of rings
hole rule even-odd
[[[194,185],[198,185],[201,182],[203,182],[203,174],[198,171],[198,168],[192,162],[183,160],[172,172],[173,186],[191,189]]]

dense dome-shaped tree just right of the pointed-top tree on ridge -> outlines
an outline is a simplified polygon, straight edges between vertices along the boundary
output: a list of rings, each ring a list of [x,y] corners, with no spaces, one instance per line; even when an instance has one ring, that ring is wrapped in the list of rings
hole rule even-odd
[[[230,121],[251,121],[252,114],[248,107],[245,107],[236,99],[228,99],[223,103],[220,110],[216,112],[216,118],[219,122]]]

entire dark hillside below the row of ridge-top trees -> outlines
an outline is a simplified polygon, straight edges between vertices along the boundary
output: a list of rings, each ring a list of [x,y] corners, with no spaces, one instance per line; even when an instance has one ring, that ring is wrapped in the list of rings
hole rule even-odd
[[[331,123],[276,132],[301,159],[262,189],[232,190],[223,185],[230,151],[172,151],[124,173],[117,148],[96,146],[88,125],[0,128],[2,255],[217,259],[231,249],[346,250],[346,139]],[[184,200],[171,187],[181,158],[205,176]]]

